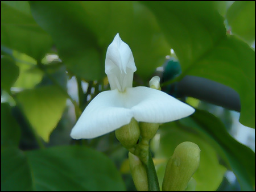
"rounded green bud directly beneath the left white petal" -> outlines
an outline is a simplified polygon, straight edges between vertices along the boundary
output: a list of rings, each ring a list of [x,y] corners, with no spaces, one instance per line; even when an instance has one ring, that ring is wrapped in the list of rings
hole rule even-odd
[[[115,130],[115,137],[123,147],[129,150],[137,144],[140,133],[138,122],[133,118],[129,124]]]

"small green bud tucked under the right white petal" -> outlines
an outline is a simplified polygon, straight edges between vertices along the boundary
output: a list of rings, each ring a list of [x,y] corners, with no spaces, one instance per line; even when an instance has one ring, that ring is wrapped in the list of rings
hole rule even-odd
[[[150,140],[155,136],[156,131],[158,131],[159,123],[140,122],[139,128],[141,129],[142,138]]]

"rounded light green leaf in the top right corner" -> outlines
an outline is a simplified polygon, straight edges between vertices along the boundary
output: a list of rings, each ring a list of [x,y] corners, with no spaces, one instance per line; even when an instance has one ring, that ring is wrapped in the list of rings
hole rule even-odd
[[[226,18],[236,34],[247,43],[255,40],[255,1],[236,1],[230,6]]]

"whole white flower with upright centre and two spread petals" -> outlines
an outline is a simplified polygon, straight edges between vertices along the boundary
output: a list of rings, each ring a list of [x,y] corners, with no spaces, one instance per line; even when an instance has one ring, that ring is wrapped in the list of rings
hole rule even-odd
[[[136,70],[133,53],[119,34],[106,52],[105,73],[110,91],[98,94],[85,108],[71,131],[73,139],[91,139],[138,122],[166,123],[195,110],[170,95],[149,87],[132,87]]]

